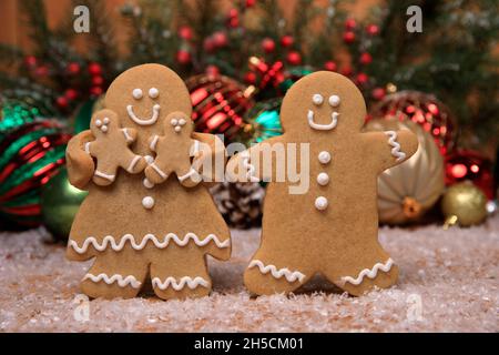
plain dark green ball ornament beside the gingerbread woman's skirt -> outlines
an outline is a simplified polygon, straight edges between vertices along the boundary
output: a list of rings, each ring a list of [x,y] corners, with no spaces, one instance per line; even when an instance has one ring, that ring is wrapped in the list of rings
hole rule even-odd
[[[42,221],[55,239],[68,239],[73,219],[86,194],[86,191],[69,183],[65,168],[42,187],[40,199]]]

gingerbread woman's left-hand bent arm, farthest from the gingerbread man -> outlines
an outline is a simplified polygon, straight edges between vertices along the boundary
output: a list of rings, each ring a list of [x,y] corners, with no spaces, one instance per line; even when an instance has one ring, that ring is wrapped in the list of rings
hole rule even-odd
[[[69,141],[65,150],[68,179],[80,190],[85,189],[95,170],[93,159],[88,152],[88,143],[93,140],[94,136],[90,130],[83,131]]]

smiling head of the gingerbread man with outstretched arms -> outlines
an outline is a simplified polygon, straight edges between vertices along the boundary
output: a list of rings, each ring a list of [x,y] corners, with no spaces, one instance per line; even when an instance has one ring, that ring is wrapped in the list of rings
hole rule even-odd
[[[359,133],[365,115],[366,104],[357,87],[328,71],[312,73],[296,82],[281,109],[284,131],[306,138],[314,133]]]

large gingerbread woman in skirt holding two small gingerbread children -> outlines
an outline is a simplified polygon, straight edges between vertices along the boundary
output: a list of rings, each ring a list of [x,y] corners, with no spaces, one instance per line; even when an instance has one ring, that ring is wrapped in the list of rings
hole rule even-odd
[[[70,182],[89,191],[67,250],[70,260],[95,258],[81,290],[91,297],[133,297],[150,282],[164,300],[207,295],[212,281],[206,254],[220,260],[231,255],[228,229],[204,183],[220,172],[206,172],[202,164],[213,158],[223,162],[223,143],[215,135],[192,132],[187,89],[163,65],[144,64],[122,73],[106,92],[105,108],[95,113],[92,130],[75,135],[67,150]],[[183,120],[175,128],[173,116]],[[116,136],[111,140],[108,134]],[[134,139],[133,153],[121,136]],[[191,145],[197,148],[190,152]],[[126,168],[116,172],[111,184],[98,184],[89,151],[96,156],[99,171],[100,160],[105,162],[105,174],[113,174],[106,156]],[[128,159],[118,159],[125,154]],[[131,173],[140,170],[132,155],[147,164],[141,173]],[[190,163],[201,168],[191,174],[193,179],[182,179]],[[152,166],[161,166],[166,175],[155,175]]]

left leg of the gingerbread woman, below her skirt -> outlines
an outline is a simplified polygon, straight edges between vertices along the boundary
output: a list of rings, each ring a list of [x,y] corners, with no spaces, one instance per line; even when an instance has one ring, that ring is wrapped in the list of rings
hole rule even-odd
[[[106,250],[99,254],[80,287],[92,298],[131,298],[139,294],[146,273],[147,261],[143,254],[126,245],[120,252]]]

